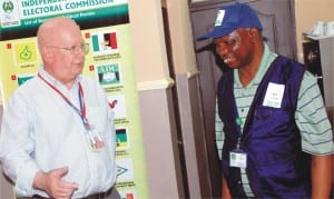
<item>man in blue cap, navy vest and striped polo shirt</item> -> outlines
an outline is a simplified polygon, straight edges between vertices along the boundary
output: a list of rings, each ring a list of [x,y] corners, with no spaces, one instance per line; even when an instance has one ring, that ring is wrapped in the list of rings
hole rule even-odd
[[[245,3],[218,11],[213,39],[232,69],[218,82],[223,198],[328,198],[334,143],[316,79],[269,50]]]

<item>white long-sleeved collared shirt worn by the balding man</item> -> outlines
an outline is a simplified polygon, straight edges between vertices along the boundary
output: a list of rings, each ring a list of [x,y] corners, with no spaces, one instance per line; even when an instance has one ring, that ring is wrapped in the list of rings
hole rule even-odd
[[[35,175],[66,166],[69,171],[62,179],[79,186],[73,198],[108,190],[116,181],[116,135],[106,93],[92,78],[79,76],[67,89],[42,68],[39,73],[78,108],[78,82],[81,83],[87,119],[105,147],[92,151],[78,112],[41,78],[28,80],[10,97],[1,126],[0,160],[16,182],[16,195],[47,197],[32,188]]]

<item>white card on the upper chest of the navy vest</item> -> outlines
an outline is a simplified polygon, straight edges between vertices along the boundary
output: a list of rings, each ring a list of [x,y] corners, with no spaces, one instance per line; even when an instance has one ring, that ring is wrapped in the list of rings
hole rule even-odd
[[[284,89],[285,89],[284,84],[277,84],[277,83],[269,82],[265,99],[263,101],[263,106],[281,108]]]

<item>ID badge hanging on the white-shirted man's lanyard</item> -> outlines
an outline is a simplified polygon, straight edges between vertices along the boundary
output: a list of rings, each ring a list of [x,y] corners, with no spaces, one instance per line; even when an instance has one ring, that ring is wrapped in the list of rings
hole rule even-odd
[[[105,147],[105,142],[98,130],[92,126],[89,126],[89,128],[86,129],[86,140],[91,151],[100,151]]]

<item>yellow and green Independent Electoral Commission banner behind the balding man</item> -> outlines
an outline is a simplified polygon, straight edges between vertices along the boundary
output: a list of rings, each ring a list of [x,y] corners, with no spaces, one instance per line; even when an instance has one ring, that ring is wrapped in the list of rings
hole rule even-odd
[[[0,0],[0,80],[6,106],[37,74],[37,28],[46,19],[76,20],[89,52],[84,74],[105,89],[115,113],[117,183],[122,198],[149,198],[127,0]]]

